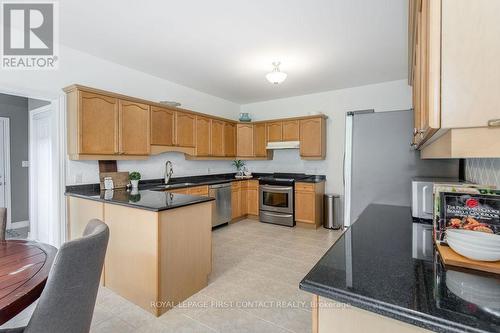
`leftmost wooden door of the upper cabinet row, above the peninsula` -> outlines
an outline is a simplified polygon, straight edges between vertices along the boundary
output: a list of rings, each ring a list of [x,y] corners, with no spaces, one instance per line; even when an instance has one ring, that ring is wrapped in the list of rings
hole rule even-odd
[[[118,154],[118,99],[79,92],[78,131],[79,154]]]

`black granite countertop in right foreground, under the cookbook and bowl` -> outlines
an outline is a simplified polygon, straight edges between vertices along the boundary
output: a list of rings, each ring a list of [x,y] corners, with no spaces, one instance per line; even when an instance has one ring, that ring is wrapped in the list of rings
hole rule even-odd
[[[300,289],[435,332],[500,332],[500,279],[412,257],[410,207],[370,205]]]

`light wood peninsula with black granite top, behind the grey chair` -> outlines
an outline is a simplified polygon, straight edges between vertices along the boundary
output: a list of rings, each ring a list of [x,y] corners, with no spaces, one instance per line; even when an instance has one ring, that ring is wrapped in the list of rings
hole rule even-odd
[[[92,218],[110,238],[101,283],[156,316],[207,286],[213,198],[165,191],[66,192],[68,238]]]

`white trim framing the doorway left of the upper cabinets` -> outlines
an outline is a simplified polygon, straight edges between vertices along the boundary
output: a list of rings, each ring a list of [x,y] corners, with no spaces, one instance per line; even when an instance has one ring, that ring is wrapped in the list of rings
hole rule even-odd
[[[35,98],[45,101],[50,101],[50,107],[54,112],[54,130],[56,131],[57,140],[55,142],[55,149],[53,151],[53,158],[56,169],[54,174],[58,177],[53,179],[53,189],[54,189],[54,200],[55,209],[53,217],[54,220],[59,224],[58,228],[54,230],[55,235],[54,246],[59,247],[62,243],[66,241],[67,238],[67,227],[66,227],[66,204],[64,198],[65,186],[66,186],[66,96],[61,93],[54,93],[50,91],[40,91],[36,89],[30,89],[28,87],[19,86],[9,86],[0,85],[0,93],[26,97]]]

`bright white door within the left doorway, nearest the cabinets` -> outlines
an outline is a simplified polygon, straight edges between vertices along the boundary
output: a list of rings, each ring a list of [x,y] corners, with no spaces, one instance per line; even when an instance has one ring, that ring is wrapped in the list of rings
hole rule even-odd
[[[53,112],[30,112],[30,238],[54,243]]]

